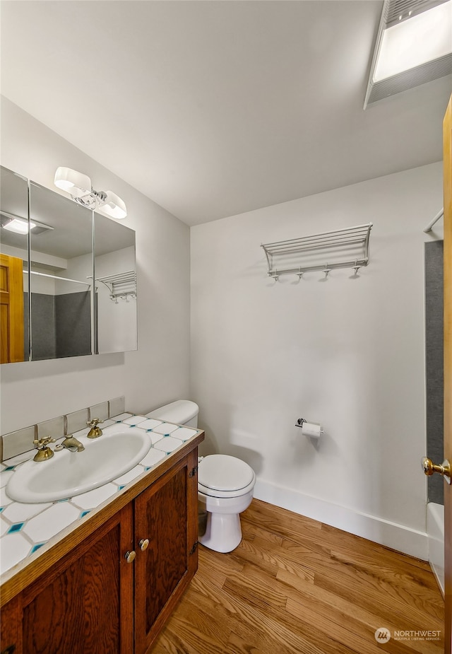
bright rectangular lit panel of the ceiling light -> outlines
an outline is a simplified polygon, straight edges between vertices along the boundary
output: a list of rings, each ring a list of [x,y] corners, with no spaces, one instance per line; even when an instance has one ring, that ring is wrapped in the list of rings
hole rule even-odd
[[[452,52],[452,1],[383,30],[373,81],[378,82]]]

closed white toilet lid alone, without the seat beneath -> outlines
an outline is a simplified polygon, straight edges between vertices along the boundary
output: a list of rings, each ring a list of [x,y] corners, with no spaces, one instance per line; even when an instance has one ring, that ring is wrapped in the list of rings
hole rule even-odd
[[[251,484],[253,477],[247,463],[225,454],[204,457],[198,466],[199,483],[215,491],[239,491]]]

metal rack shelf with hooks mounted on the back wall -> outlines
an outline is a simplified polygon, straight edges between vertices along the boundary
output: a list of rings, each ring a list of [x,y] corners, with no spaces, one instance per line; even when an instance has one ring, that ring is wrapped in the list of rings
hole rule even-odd
[[[372,223],[348,227],[292,240],[261,245],[266,253],[268,276],[297,274],[319,270],[328,273],[337,268],[359,268],[369,264],[369,237]]]

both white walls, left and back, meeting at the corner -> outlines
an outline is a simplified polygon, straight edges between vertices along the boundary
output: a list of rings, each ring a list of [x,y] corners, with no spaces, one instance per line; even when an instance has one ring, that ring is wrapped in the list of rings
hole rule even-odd
[[[137,352],[1,366],[1,433],[117,395],[136,412],[191,397],[204,453],[248,461],[256,496],[427,556],[422,228],[440,164],[192,228],[189,394],[189,229],[8,100],[1,163],[51,189],[67,165],[123,197],[139,292]],[[261,243],[368,221],[358,279],[266,276]],[[323,424],[318,448],[300,416]]]

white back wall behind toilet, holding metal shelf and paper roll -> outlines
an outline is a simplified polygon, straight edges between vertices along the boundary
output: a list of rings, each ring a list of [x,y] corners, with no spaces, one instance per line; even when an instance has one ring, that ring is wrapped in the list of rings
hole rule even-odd
[[[422,229],[441,206],[438,163],[191,229],[201,452],[249,462],[257,497],[424,558]],[[261,243],[367,222],[357,279],[266,276]]]

